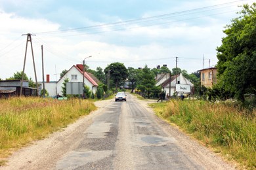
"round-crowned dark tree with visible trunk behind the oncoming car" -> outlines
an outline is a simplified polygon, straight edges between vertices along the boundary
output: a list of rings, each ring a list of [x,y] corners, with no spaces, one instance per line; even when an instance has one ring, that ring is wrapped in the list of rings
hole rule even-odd
[[[104,72],[105,74],[108,74],[108,71],[110,70],[110,78],[114,81],[114,84],[116,86],[116,92],[117,88],[120,82],[124,81],[127,76],[128,76],[128,71],[123,65],[123,63],[111,63],[108,65],[105,69]]]

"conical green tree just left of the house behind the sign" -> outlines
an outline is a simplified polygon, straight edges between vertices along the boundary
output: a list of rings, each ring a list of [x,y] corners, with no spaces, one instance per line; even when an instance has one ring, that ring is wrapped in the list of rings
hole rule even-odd
[[[150,98],[150,93],[156,91],[156,80],[155,75],[147,65],[142,69],[142,72],[139,74],[139,84],[137,86],[138,90],[142,92],[142,95],[146,97],[145,95]],[[161,88],[160,88],[161,90]]]

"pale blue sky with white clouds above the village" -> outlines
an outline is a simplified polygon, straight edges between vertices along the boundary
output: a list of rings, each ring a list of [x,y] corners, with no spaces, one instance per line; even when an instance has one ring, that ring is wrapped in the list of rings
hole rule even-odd
[[[235,0],[0,0],[0,78],[24,67],[32,80],[58,80],[85,63],[90,69],[167,65],[193,73],[217,64],[224,27],[243,4]],[[43,46],[43,50],[42,50]],[[89,57],[91,56],[91,57]]]

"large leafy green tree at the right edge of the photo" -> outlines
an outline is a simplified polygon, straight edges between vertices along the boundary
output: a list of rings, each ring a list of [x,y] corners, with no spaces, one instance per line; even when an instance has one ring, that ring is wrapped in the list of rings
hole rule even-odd
[[[244,5],[240,16],[223,31],[217,47],[219,86],[245,100],[245,93],[256,93],[256,3]]]

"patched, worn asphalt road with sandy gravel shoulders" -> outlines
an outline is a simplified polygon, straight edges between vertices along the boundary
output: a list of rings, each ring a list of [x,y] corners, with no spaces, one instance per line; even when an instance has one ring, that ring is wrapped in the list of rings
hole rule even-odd
[[[3,169],[234,169],[145,101],[102,101],[99,109],[49,139],[24,148]],[[2,168],[0,168],[2,169]]]

